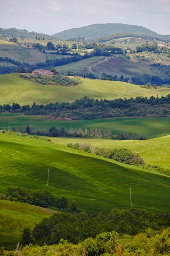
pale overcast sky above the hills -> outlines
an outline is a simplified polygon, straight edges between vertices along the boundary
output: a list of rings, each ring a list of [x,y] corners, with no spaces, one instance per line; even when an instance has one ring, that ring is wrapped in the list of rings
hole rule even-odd
[[[170,0],[0,0],[0,27],[48,35],[95,23],[140,25],[170,34]]]

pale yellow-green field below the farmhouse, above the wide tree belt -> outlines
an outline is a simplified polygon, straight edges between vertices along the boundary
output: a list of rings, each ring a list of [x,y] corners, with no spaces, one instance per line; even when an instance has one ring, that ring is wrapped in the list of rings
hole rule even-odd
[[[136,96],[166,96],[170,88],[148,90],[134,84],[119,81],[82,79],[77,86],[42,85],[20,78],[18,74],[0,75],[0,104],[20,103],[21,105],[37,102],[73,102],[83,96],[95,99],[130,98]]]

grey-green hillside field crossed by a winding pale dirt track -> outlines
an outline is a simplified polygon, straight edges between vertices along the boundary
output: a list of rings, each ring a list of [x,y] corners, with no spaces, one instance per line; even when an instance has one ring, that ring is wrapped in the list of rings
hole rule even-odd
[[[112,57],[112,56],[111,56]],[[63,65],[60,67],[56,67],[58,72],[67,74],[68,70],[77,73],[91,73],[89,71],[89,67],[94,64],[99,63],[104,60],[105,57],[92,57],[89,59],[85,59],[76,63],[71,63],[67,65]],[[150,64],[150,63],[149,63]],[[92,67],[91,70],[99,76],[102,76],[102,73],[111,74],[112,76],[117,75],[120,77],[123,75],[124,77],[132,77],[132,76],[142,76],[143,74],[148,74],[150,76],[160,76],[167,77],[162,74],[156,67],[152,67],[146,61],[136,62],[132,59],[127,59],[122,55],[117,55],[116,58],[111,58],[108,61],[102,62],[101,64]]]

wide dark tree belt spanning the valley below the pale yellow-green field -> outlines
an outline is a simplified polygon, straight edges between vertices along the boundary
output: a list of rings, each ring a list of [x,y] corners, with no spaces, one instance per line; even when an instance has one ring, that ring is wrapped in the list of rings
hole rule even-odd
[[[159,111],[168,114],[170,105],[170,94],[160,98],[151,96],[150,98],[138,96],[135,99],[93,99],[87,96],[77,99],[74,102],[56,102],[46,105],[38,105],[35,102],[32,106],[14,103],[12,105],[0,105],[0,112],[11,111],[24,113],[26,115],[45,115],[53,113],[54,117],[71,119],[96,119],[111,116],[142,116],[147,107],[147,114],[151,116]],[[153,107],[154,106],[154,107]],[[152,111],[153,110],[153,111]],[[157,112],[156,112],[157,111]],[[108,114],[109,113],[109,114]],[[162,114],[163,112],[160,112]]]

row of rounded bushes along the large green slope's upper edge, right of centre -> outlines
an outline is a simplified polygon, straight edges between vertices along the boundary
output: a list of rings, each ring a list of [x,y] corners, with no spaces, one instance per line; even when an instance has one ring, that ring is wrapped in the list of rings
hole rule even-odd
[[[81,145],[79,143],[76,143],[76,144],[68,143],[67,146],[69,148],[74,148],[80,151],[96,154],[97,156],[100,156],[100,157],[113,159],[120,163],[125,163],[130,165],[144,164],[144,160],[138,154],[133,153],[127,148],[114,148],[114,149],[94,148],[90,145],[87,145],[87,144]]]

